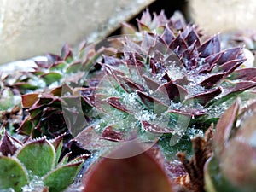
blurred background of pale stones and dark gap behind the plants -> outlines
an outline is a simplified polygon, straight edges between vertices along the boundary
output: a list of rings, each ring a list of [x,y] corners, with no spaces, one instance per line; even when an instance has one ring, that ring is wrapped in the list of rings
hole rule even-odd
[[[119,23],[137,26],[146,8],[179,10],[207,34],[256,29],[254,0],[0,0],[0,64],[120,34]]]

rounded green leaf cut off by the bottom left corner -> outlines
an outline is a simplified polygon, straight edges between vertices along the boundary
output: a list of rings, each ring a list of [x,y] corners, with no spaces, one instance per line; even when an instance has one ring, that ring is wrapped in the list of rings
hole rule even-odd
[[[20,162],[11,157],[0,156],[0,191],[11,188],[21,192],[21,187],[26,184],[27,172]]]

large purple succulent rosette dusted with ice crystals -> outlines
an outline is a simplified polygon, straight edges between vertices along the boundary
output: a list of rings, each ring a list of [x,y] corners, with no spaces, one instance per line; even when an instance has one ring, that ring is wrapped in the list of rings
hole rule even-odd
[[[161,137],[168,146],[181,138],[187,143],[196,129],[217,122],[237,95],[256,86],[249,70],[237,69],[246,60],[241,47],[222,50],[218,35],[203,42],[197,27],[182,18],[161,13],[151,20],[145,12],[138,32],[124,26],[133,35],[110,38],[119,47],[100,62],[104,76],[91,105],[102,116],[76,137],[84,148],[134,137],[145,143]]]

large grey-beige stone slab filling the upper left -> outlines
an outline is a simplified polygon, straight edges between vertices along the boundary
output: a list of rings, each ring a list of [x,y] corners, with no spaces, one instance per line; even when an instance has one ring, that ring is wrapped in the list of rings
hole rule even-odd
[[[154,0],[0,0],[0,64],[106,36]]]

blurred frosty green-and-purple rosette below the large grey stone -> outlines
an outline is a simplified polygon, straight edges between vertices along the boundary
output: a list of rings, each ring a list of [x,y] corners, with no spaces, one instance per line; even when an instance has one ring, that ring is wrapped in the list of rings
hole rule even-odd
[[[78,50],[73,50],[68,44],[61,49],[61,55],[46,54],[44,60],[35,60],[34,65],[26,70],[1,74],[1,87],[8,87],[15,94],[45,92],[61,84],[81,84],[84,76],[94,69],[96,52],[93,45],[83,42]],[[82,82],[83,84],[83,82]]]

